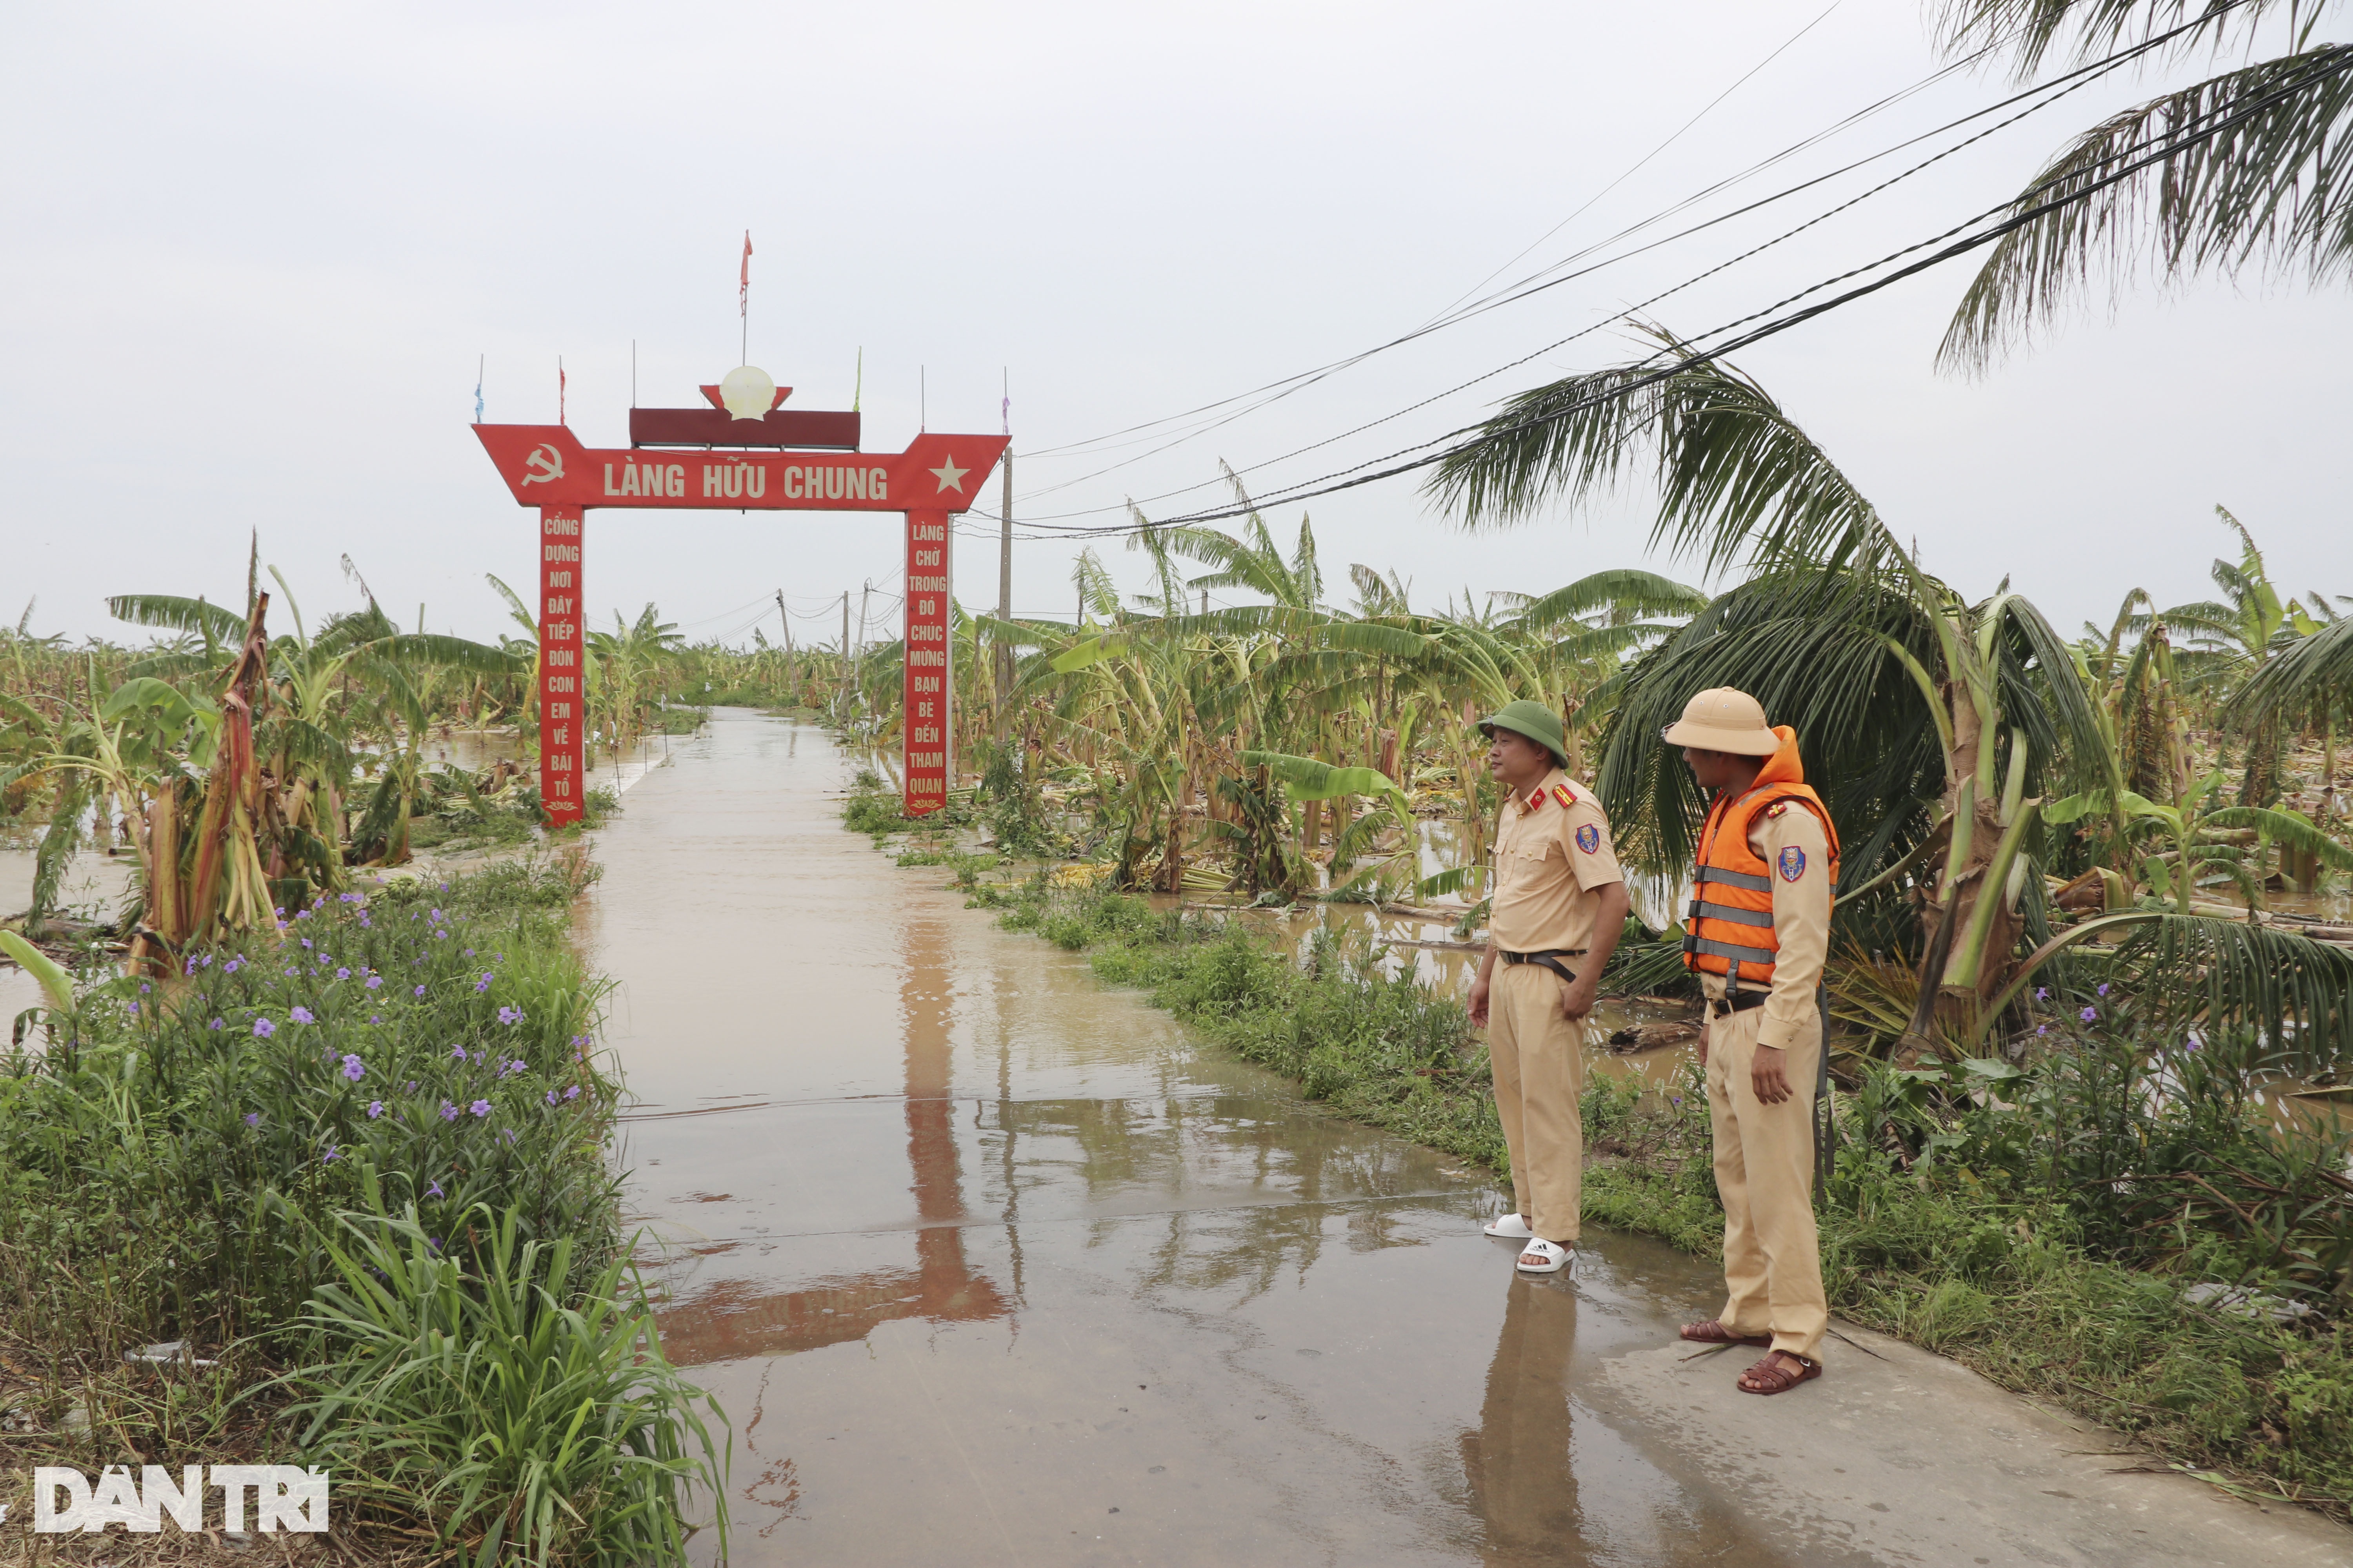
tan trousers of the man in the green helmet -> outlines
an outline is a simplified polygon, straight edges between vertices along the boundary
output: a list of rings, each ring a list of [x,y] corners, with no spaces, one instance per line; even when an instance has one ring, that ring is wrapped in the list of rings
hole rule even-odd
[[[1574,1241],[1586,1173],[1584,1027],[1560,1016],[1565,983],[1544,964],[1497,964],[1487,990],[1494,1110],[1511,1150],[1511,1197],[1546,1241]]]

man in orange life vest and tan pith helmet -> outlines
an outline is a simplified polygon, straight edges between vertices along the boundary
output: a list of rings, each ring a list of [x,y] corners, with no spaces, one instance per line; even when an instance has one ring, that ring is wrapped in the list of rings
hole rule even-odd
[[[1685,1324],[1699,1345],[1767,1345],[1741,1373],[1746,1394],[1781,1394],[1821,1375],[1831,1307],[1814,1232],[1814,990],[1831,947],[1838,827],[1805,783],[1798,731],[1767,726],[1746,691],[1701,691],[1666,743],[1713,792],[1682,961],[1708,999],[1701,1060],[1725,1199],[1725,1309]]]

